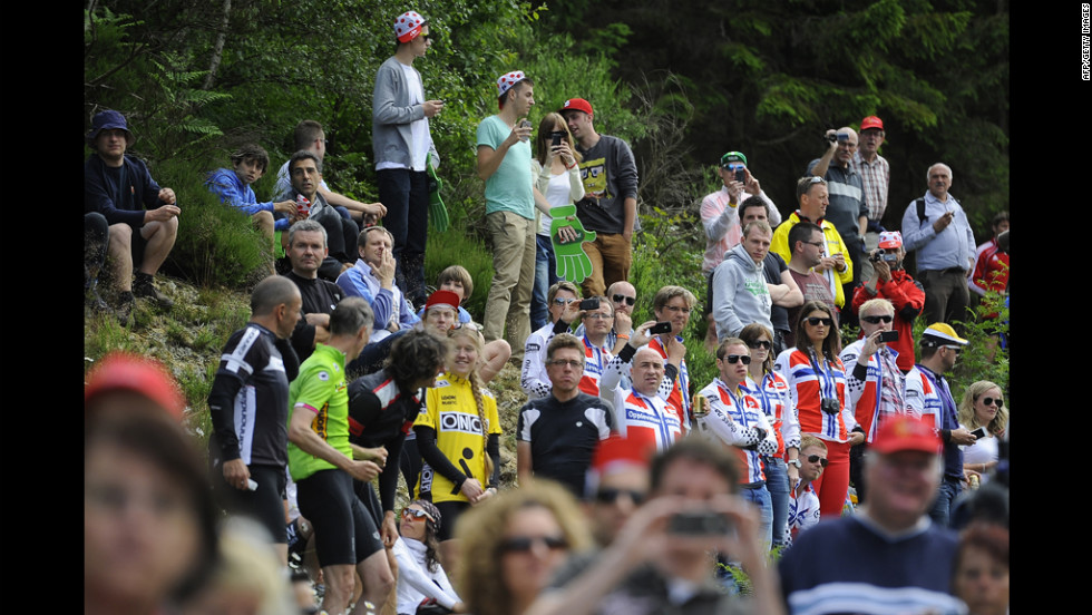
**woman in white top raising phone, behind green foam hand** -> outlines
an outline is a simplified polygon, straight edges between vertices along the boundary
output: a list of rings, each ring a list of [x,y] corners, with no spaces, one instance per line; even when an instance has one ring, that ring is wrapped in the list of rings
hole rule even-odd
[[[558,145],[554,145],[555,138]],[[565,118],[557,113],[546,114],[538,124],[538,138],[535,140],[535,157],[530,170],[535,187],[546,198],[536,198],[535,215],[538,218],[538,243],[535,253],[535,287],[530,301],[530,330],[538,331],[548,319],[546,291],[556,283],[557,263],[554,260],[554,244],[549,240],[549,225],[553,222],[550,209],[571,206],[584,198],[584,180],[581,178],[581,154],[573,147],[573,134]],[[548,205],[548,208],[546,208]]]

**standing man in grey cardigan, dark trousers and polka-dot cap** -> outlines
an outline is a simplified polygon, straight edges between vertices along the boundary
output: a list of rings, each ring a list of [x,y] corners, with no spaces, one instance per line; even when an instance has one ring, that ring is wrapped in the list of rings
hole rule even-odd
[[[394,280],[415,305],[425,290],[425,244],[428,238],[429,189],[426,164],[440,164],[428,118],[443,108],[426,100],[413,60],[431,45],[428,22],[416,11],[394,19],[398,49],[379,67],[372,97],[372,147],[379,199],[387,206],[383,226],[394,236]],[[431,157],[429,156],[431,155]],[[426,162],[428,160],[428,163]]]

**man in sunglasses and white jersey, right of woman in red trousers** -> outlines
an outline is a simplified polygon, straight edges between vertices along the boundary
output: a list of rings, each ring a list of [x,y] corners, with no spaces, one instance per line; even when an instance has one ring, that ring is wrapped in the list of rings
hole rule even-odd
[[[846,407],[857,420],[854,430],[865,433],[865,441],[849,450],[849,482],[857,489],[857,501],[865,501],[861,457],[880,427],[891,418],[908,412],[906,377],[898,369],[898,351],[880,335],[891,331],[895,306],[886,299],[872,299],[860,306],[861,339],[839,354],[846,365]]]

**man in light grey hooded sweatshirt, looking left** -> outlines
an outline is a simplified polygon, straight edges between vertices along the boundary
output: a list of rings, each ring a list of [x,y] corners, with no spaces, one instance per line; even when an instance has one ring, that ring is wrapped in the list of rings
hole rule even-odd
[[[743,242],[724,255],[713,270],[713,319],[720,340],[739,335],[745,325],[757,322],[773,331],[770,309],[773,296],[762,273],[762,261],[770,252],[773,230],[766,221],[743,227]]]

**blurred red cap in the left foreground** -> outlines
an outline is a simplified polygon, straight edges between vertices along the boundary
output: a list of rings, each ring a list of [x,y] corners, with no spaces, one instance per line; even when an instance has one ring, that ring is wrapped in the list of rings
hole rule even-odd
[[[84,407],[97,396],[118,390],[150,399],[177,420],[182,420],[186,409],[186,399],[167,368],[139,354],[110,352],[91,368],[84,385]]]

